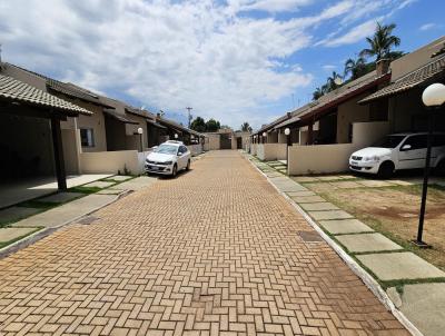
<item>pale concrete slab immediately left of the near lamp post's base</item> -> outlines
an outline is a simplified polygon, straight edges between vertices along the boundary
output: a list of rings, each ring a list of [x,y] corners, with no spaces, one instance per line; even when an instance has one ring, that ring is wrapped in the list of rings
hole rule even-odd
[[[403,249],[382,234],[343,235],[336,238],[352,253]]]

